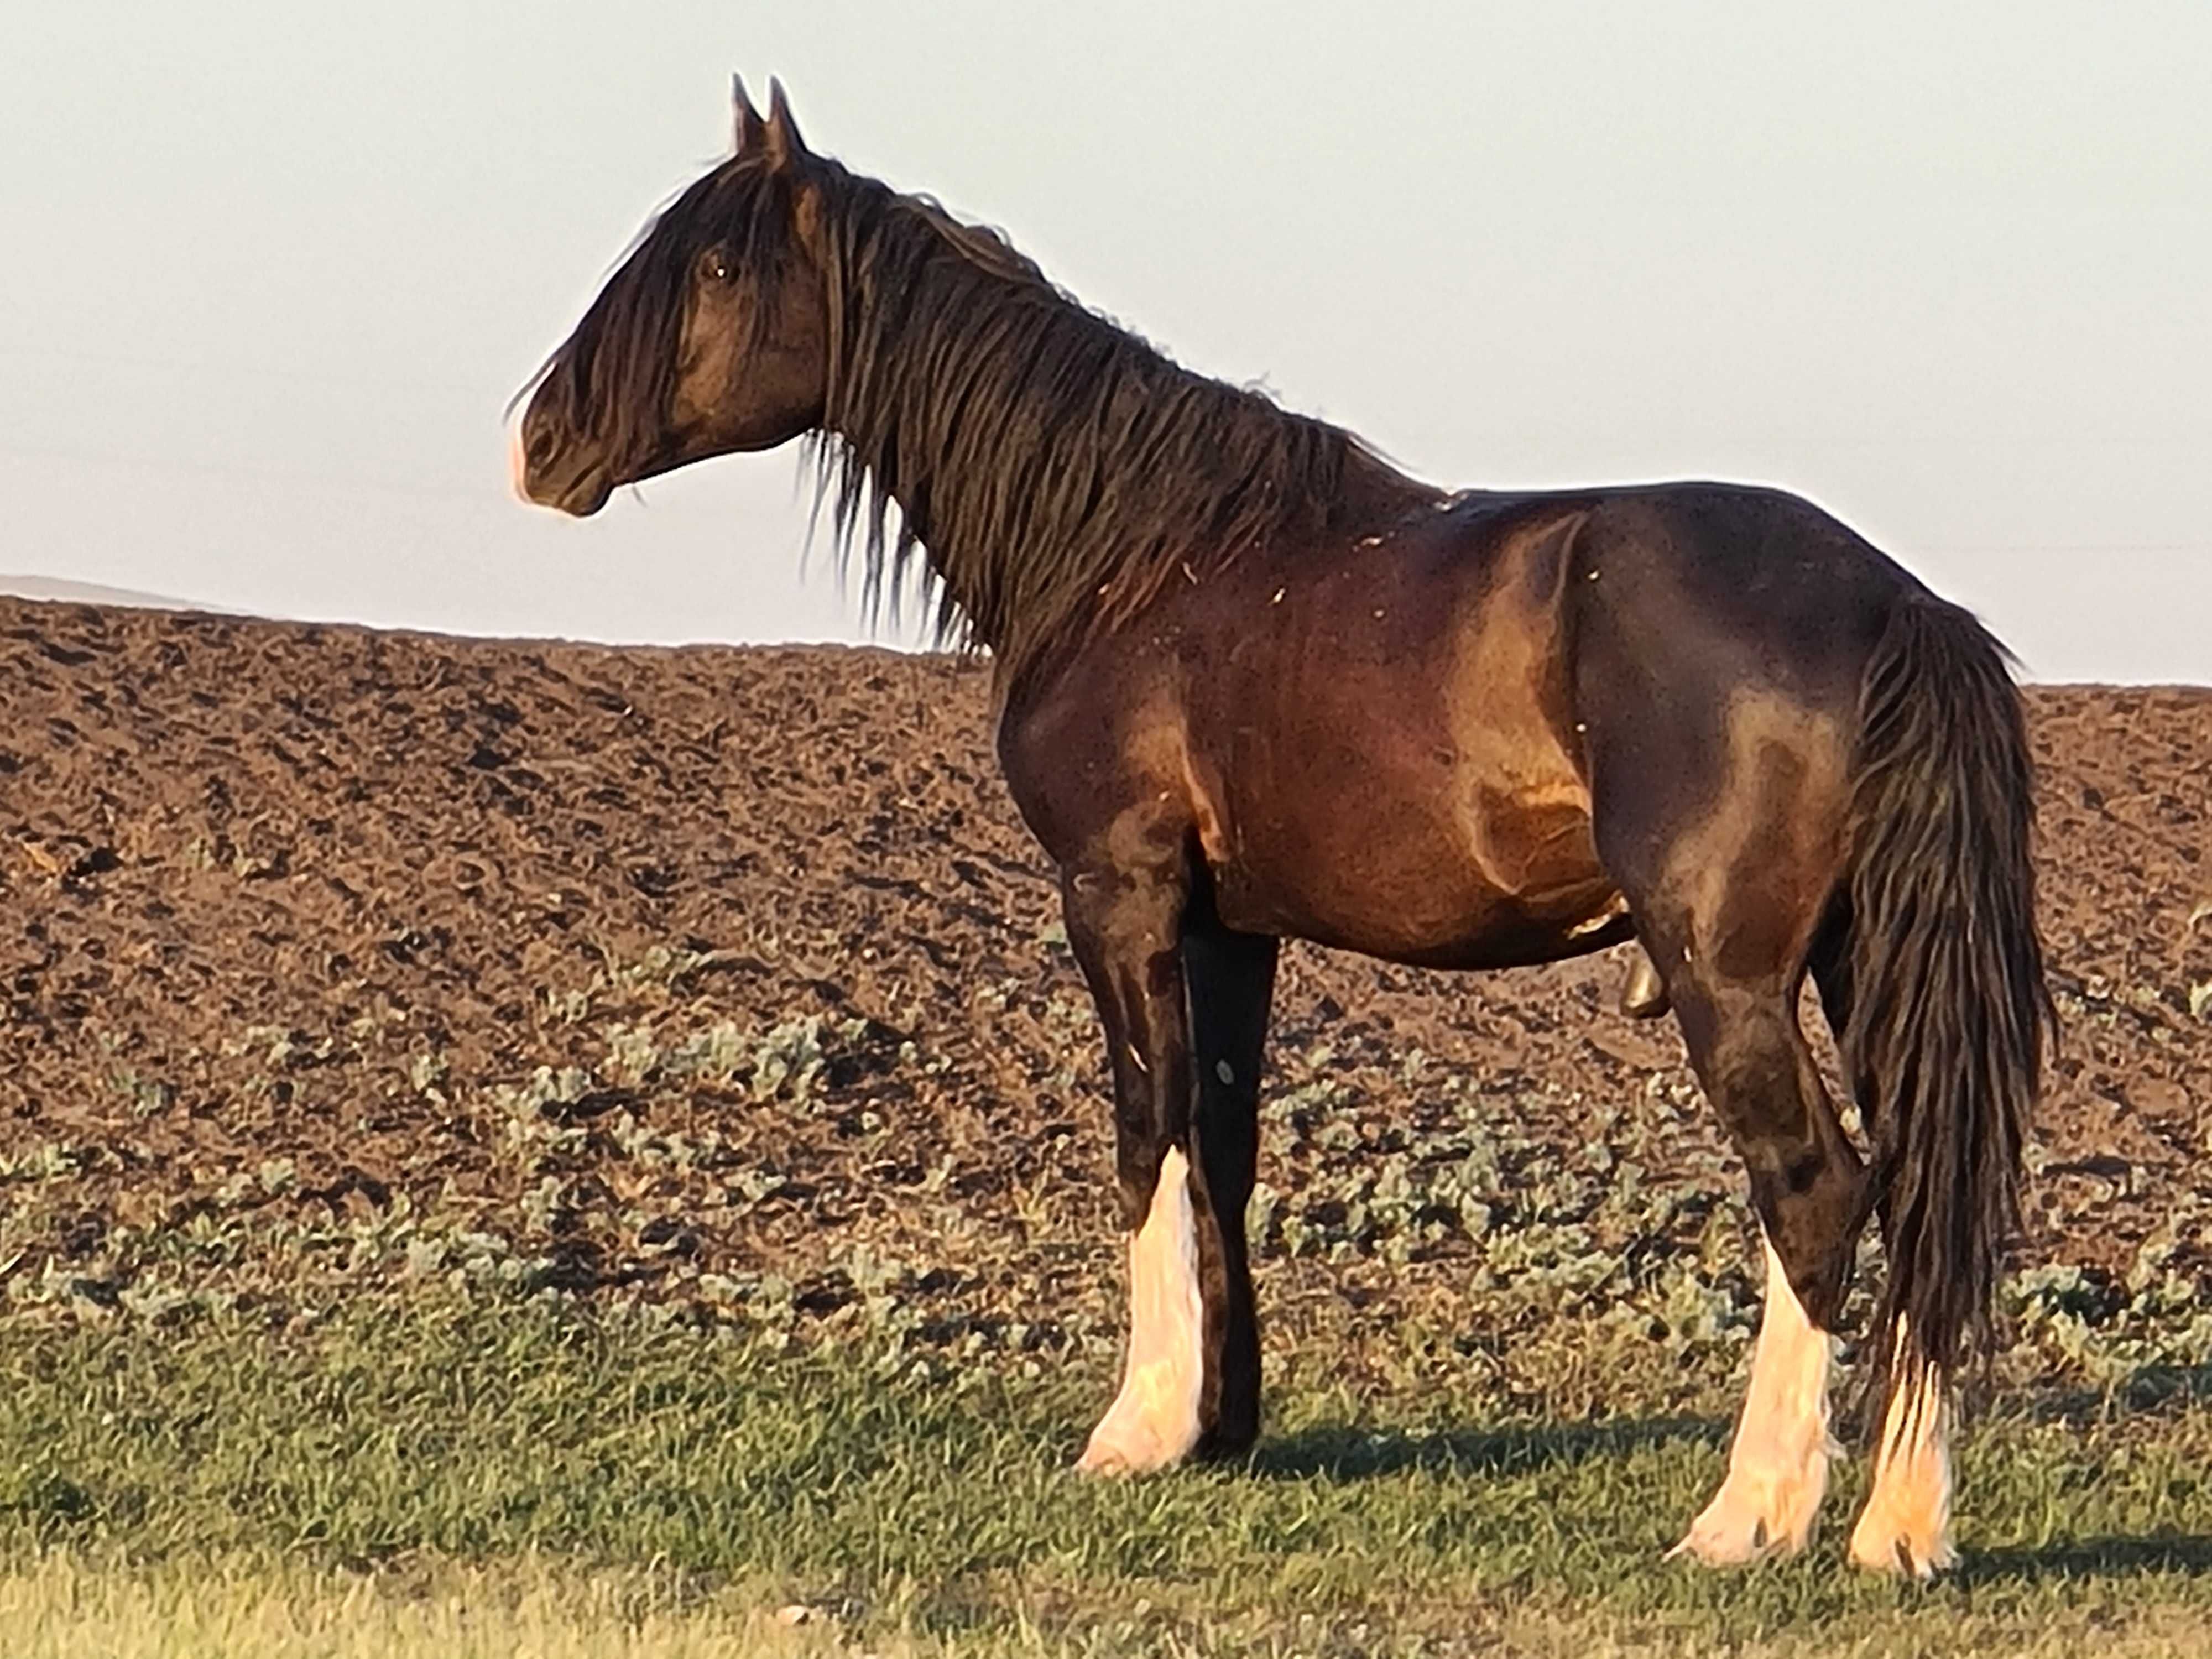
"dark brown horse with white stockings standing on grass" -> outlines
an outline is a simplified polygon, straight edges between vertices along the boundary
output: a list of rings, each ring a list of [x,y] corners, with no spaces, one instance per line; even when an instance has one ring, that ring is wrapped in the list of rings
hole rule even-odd
[[[1133,1329],[1084,1469],[1259,1431],[1243,1217],[1281,938],[1462,969],[1635,938],[1767,1256],[1728,1480],[1681,1548],[1809,1537],[1874,1214],[1885,1405],[1851,1557],[1951,1559],[1949,1385],[1986,1347],[2051,1018],[2020,701],[1973,617],[1776,491],[1420,484],[739,91],[737,155],[555,352],[515,473],[593,513],[807,434],[869,597],[920,555],[942,630],[989,648],[1106,1026]],[[1798,1029],[1807,973],[1865,1159]]]

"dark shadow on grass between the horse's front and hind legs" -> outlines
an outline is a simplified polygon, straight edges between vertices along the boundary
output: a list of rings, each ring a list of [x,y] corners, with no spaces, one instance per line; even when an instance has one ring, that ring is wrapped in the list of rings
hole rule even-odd
[[[1652,1418],[1438,1433],[1325,1422],[1261,1442],[1245,1469],[1263,1480],[1376,1480],[1405,1471],[1517,1475],[1681,1442],[1723,1447],[1728,1422]]]

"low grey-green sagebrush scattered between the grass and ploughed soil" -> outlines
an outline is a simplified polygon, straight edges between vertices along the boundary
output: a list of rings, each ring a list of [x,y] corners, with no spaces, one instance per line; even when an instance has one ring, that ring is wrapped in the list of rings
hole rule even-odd
[[[0,1161],[0,1310],[175,1323],[241,1298],[283,1316],[431,1290],[657,1305],[776,1343],[880,1338],[918,1363],[960,1367],[1020,1371],[1040,1352],[1115,1352],[1117,1279],[1097,1206],[1042,1177],[969,1199],[956,1161],[938,1159],[902,1190],[902,1225],[783,1228],[770,1261],[721,1245],[717,1228],[790,1210],[810,1177],[763,1159],[770,1137],[739,1144],[714,1113],[701,1117],[701,1091],[726,1121],[827,1117],[865,1148],[885,1139],[883,1117],[854,1102],[849,1079],[905,1086],[945,1062],[867,1018],[792,1013],[745,1026],[670,993],[712,960],[655,951],[611,962],[582,1006],[546,1015],[588,1035],[588,1064],[544,1062],[520,1082],[451,1097],[518,1168],[504,1203],[451,1186],[394,1188],[341,1212],[303,1192],[296,1159],[263,1157],[179,1212],[104,1223],[91,1248],[71,1250],[71,1181],[113,1155],[38,1141]],[[975,995],[1011,1006],[1022,987],[982,984]],[[1066,1071],[1093,1064],[1082,995],[1055,991],[1040,1006],[1066,1042]],[[232,1040],[270,1066],[268,1088],[334,1046],[332,1035],[276,1026]],[[416,1051],[400,1082],[445,1091],[449,1075],[445,1055]],[[1756,1325],[1759,1285],[1734,1172],[1719,1157],[1683,1164],[1663,1139],[1701,1108],[1686,1075],[1652,1073],[1637,1099],[1564,1102],[1590,1121],[1590,1137],[1568,1148],[1522,1128],[1528,1113],[1515,1091],[1546,1084],[1500,1084],[1420,1048],[1396,1057],[1391,1084],[1402,1102],[1378,1115],[1332,1044],[1285,1044],[1274,1057],[1250,1232],[1263,1296],[1290,1292],[1287,1307],[1263,1312],[1279,1314],[1294,1343],[1336,1345],[1378,1385],[1451,1387],[1473,1371],[1502,1400],[1548,1398],[1577,1416],[1725,1396]],[[2203,1214],[2197,1197],[2177,1199],[2124,1272],[2017,1272],[2004,1287],[2017,1343],[1997,1383],[2119,1391],[2203,1365],[2212,1303],[2188,1261]],[[1068,1276],[1053,1259],[1097,1270]],[[1876,1265],[1871,1254],[1865,1265]],[[1367,1290],[1332,1294],[1345,1276]],[[1051,1301],[1015,1285],[1048,1285]]]

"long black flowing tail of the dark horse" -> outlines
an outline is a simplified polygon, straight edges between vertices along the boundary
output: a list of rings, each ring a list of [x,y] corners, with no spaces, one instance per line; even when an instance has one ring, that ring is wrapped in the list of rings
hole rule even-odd
[[[1911,595],[1860,690],[1843,1033],[1871,1095],[1860,1106],[1889,1254],[1871,1356],[1891,1396],[1986,1352],[2020,1225],[2022,1146],[2055,1029],[2033,821],[2004,648],[1966,611]]]

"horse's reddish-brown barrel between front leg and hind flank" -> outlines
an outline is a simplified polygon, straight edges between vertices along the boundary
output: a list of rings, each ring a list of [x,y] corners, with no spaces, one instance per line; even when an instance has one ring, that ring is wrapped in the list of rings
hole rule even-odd
[[[1455,967],[1626,931],[1573,752],[1557,529],[1405,533],[1283,582],[1265,630],[1192,630],[1186,768],[1223,920]]]

